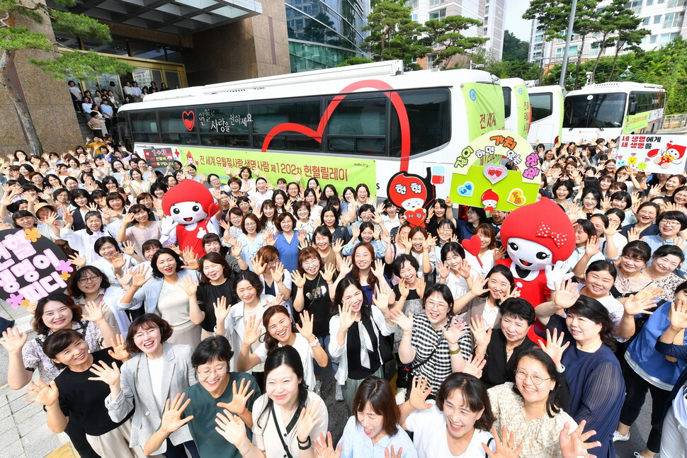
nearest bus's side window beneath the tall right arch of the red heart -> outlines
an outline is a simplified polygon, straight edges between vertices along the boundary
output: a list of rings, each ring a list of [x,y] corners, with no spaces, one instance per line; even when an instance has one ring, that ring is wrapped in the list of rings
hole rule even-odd
[[[387,97],[361,96],[348,96],[336,106],[327,122],[327,150],[386,156]]]

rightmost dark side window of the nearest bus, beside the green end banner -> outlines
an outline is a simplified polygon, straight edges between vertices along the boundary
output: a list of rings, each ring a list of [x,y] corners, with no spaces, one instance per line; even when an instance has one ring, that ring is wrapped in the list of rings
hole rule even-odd
[[[410,154],[420,154],[448,144],[451,139],[450,91],[447,88],[399,91],[410,125]],[[392,157],[401,156],[401,133],[396,110],[391,107],[390,148]],[[467,138],[467,127],[465,127]]]

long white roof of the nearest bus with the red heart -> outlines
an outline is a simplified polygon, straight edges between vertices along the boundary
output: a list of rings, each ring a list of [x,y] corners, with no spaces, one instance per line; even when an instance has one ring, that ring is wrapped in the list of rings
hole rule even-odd
[[[159,91],[148,94],[142,102],[127,103],[119,111],[334,94],[339,93],[351,82],[360,79],[378,79],[399,90],[451,87],[472,82],[497,84],[498,81],[496,76],[487,71],[476,69],[404,72],[402,61],[396,60]],[[285,91],[285,86],[289,86],[288,91]],[[368,91],[378,91],[378,89],[360,88],[356,92]]]

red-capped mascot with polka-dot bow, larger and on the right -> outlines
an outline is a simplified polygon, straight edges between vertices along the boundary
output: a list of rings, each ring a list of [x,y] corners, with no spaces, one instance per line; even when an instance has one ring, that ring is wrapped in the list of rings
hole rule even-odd
[[[499,234],[509,258],[496,263],[511,270],[520,297],[534,307],[550,299],[555,285],[572,277],[564,261],[575,249],[575,231],[552,200],[543,198],[513,210]]]

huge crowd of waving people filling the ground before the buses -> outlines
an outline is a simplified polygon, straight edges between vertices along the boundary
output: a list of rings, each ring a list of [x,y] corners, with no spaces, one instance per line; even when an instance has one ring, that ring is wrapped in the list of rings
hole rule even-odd
[[[223,183],[86,143],[0,164],[0,229],[36,228],[75,267],[29,305],[35,338],[3,326],[8,384],[81,457],[613,458],[647,392],[636,455],[686,453],[684,174],[618,168],[603,140],[537,145],[576,248],[531,304],[499,263],[508,212],[437,198],[412,227],[365,183]],[[200,258],[164,231],[185,180],[220,207]]]

